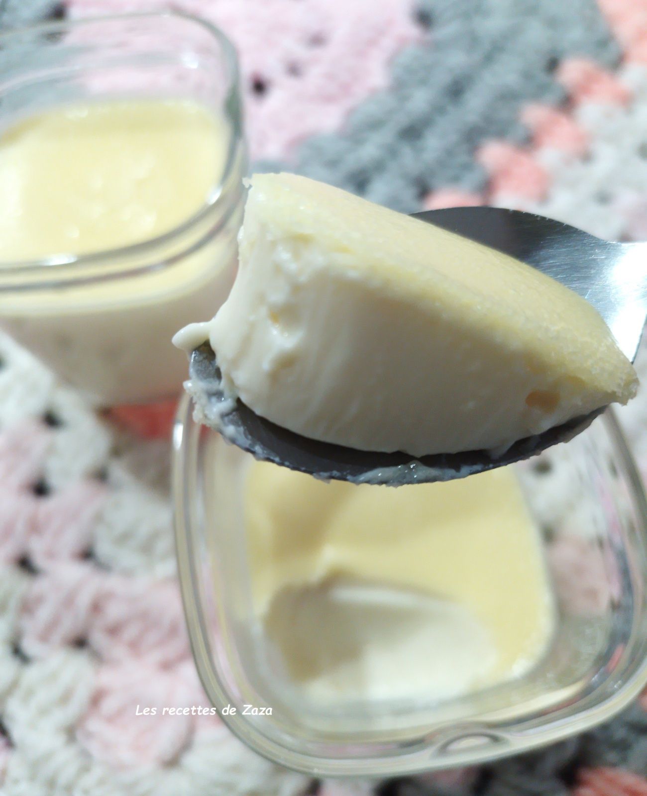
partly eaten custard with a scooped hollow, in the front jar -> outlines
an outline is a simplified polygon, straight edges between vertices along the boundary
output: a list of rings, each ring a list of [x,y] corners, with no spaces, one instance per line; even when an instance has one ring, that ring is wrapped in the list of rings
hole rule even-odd
[[[253,462],[245,529],[254,611],[308,696],[441,700],[547,647],[539,533],[508,468],[389,489]]]

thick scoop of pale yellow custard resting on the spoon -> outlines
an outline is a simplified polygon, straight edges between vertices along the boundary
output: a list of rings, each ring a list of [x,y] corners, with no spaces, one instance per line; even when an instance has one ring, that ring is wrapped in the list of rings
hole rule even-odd
[[[588,302],[534,268],[295,174],[252,178],[236,282],[208,324],[225,388],[365,451],[502,449],[637,389]]]

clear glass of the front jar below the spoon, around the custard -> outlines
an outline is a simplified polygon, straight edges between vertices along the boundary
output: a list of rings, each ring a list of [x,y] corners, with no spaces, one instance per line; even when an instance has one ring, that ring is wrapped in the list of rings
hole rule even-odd
[[[523,677],[435,703],[421,693],[413,705],[315,709],[297,693],[266,687],[242,513],[241,472],[250,460],[198,425],[185,396],[174,427],[173,482],[190,642],[212,704],[261,755],[326,776],[479,763],[582,732],[645,687],[647,504],[612,412],[570,443],[515,465],[541,529],[556,608],[546,653]],[[250,714],[245,705],[261,710]]]

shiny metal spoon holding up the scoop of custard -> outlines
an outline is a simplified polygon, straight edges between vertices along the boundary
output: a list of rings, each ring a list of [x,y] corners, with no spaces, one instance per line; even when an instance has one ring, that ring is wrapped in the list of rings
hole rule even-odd
[[[414,217],[505,252],[570,287],[586,298],[608,324],[622,352],[633,361],[647,318],[647,244],[600,240],[559,221],[492,207],[415,213]],[[449,481],[492,470],[566,442],[583,431],[604,408],[521,439],[499,458],[488,451],[434,454],[375,453],[320,443],[257,416],[240,400],[225,400],[221,374],[208,343],[190,359],[189,391],[198,415],[238,447],[317,478],[403,484]]]

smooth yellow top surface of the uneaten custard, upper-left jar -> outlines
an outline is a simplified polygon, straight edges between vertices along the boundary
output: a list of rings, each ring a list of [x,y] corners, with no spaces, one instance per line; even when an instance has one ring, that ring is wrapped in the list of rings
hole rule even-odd
[[[77,103],[0,135],[0,263],[151,240],[205,205],[224,119],[190,100]]]

